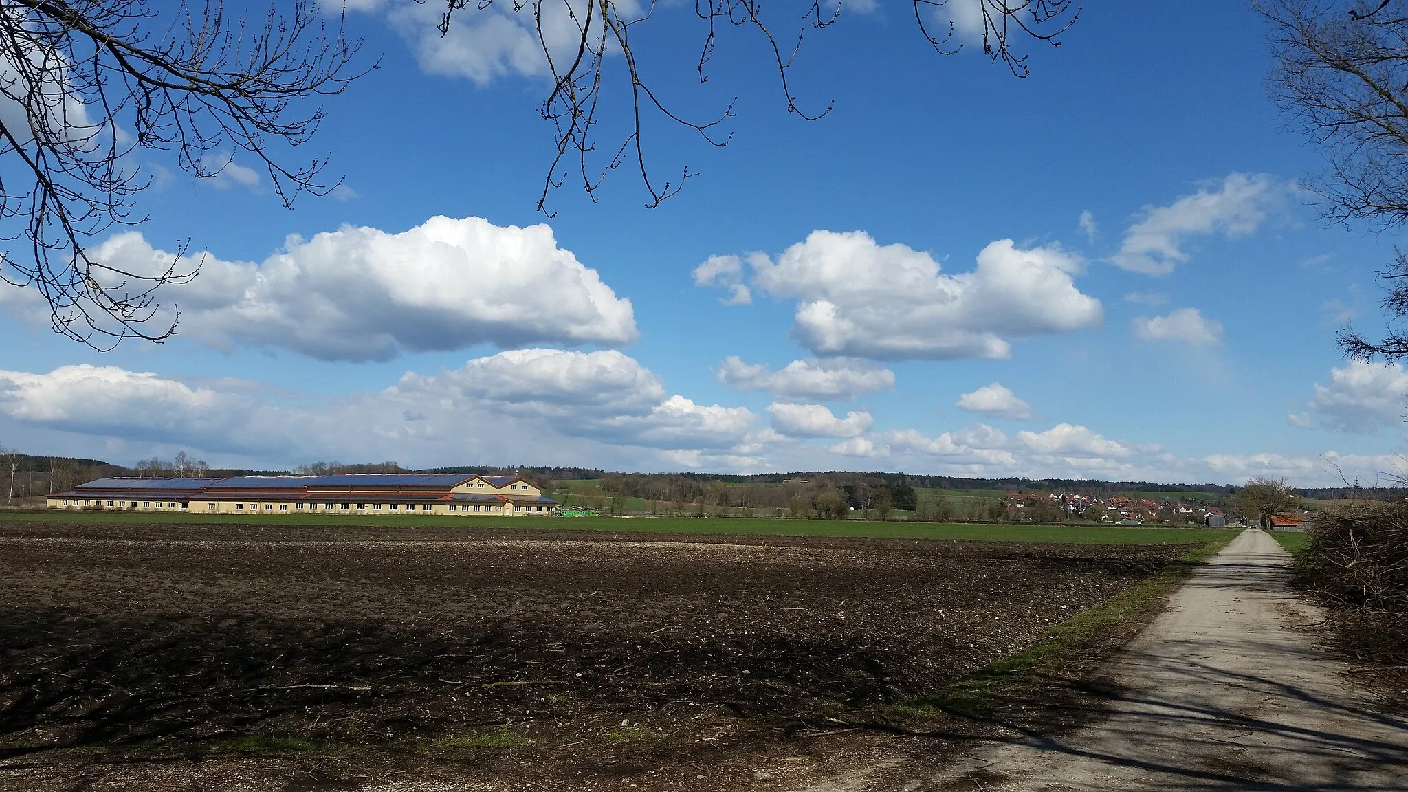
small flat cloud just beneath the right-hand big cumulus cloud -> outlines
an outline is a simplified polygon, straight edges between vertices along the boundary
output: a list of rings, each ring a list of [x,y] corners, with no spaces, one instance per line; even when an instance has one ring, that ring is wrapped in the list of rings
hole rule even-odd
[[[729,355],[718,380],[741,390],[765,390],[777,399],[845,399],[894,388],[894,372],[859,358],[793,361],[779,371]]]

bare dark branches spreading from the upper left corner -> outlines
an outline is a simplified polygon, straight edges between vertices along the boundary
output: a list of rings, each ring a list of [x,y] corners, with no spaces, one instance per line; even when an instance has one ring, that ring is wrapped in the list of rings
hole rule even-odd
[[[238,151],[286,204],[325,193],[325,158],[284,156],[324,117],[301,100],[341,92],[356,49],[310,0],[248,18],[220,0],[0,0],[0,234],[11,241],[0,278],[34,289],[77,341],[169,337],[179,311],[158,316],[153,292],[199,262],[130,271],[89,255],[94,235],[146,218],[139,155],[170,151],[211,178]]]

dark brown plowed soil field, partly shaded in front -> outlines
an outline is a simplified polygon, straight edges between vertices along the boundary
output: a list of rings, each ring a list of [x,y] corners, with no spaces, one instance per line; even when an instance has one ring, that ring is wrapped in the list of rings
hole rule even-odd
[[[684,778],[1012,654],[1180,551],[0,523],[0,757]]]

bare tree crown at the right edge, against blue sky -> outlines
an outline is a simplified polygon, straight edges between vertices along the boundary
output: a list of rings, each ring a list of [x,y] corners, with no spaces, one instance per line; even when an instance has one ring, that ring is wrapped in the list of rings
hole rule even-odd
[[[1271,23],[1271,89],[1294,124],[1316,142],[1329,171],[1309,186],[1336,221],[1376,230],[1408,221],[1408,1],[1257,0]],[[1352,326],[1339,335],[1352,358],[1408,355],[1408,258],[1395,251],[1381,340]]]

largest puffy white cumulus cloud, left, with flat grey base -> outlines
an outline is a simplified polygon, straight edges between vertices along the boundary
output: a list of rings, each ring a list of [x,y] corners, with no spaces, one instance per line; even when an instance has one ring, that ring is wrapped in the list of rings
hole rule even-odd
[[[135,231],[92,255],[137,272],[173,258]],[[631,300],[559,248],[546,225],[432,217],[400,234],[345,225],[290,237],[260,264],[191,259],[200,273],[161,295],[183,311],[179,333],[218,347],[377,361],[484,342],[617,347],[638,337]]]

